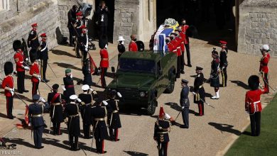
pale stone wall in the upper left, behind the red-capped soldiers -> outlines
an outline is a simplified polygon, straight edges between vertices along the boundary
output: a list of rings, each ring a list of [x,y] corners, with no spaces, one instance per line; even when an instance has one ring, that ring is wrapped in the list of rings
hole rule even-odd
[[[60,19],[57,0],[21,0],[26,4],[26,11],[22,10],[17,15],[17,9],[14,7],[15,1],[11,1],[10,11],[0,11],[0,17],[5,14],[9,18],[4,18],[0,23],[0,73],[4,75],[4,62],[12,61],[14,51],[12,48],[13,40],[27,40],[28,33],[31,30],[32,23],[38,23],[38,34],[46,33],[48,35],[48,48],[57,46],[56,29],[60,28]],[[14,10],[15,9],[15,10]],[[16,12],[16,16],[6,15],[6,12]],[[3,19],[3,18],[2,18]],[[40,40],[40,39],[39,39]]]

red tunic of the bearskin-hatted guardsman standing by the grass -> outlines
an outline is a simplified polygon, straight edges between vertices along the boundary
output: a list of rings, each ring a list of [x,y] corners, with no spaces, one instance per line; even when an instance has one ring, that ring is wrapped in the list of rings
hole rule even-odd
[[[261,89],[246,92],[245,111],[250,114],[261,111],[261,94],[264,94],[264,91]]]

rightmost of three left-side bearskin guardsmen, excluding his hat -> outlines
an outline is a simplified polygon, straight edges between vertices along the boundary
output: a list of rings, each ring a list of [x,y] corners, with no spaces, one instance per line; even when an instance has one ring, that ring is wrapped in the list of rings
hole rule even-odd
[[[30,74],[32,75],[31,82],[32,82],[32,96],[37,94],[38,91],[38,84],[41,81],[40,77],[40,70],[37,60],[31,60],[31,69]]]

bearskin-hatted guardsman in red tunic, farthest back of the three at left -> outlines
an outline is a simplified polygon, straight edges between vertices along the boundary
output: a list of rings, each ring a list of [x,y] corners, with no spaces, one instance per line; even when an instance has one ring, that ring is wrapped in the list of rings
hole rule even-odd
[[[21,50],[21,41],[15,40],[13,42],[13,50],[16,51],[13,59],[16,62],[16,72],[17,72],[17,90],[18,93],[23,94],[23,92],[28,92],[28,90],[24,87],[24,79],[25,79],[25,70],[29,70],[29,67],[24,65],[24,55]]]

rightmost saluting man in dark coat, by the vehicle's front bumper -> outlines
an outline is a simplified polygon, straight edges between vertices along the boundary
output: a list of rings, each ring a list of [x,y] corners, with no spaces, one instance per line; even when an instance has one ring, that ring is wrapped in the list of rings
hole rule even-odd
[[[119,92],[112,90],[110,99],[107,100],[108,125],[109,137],[114,141],[119,141],[119,128],[121,128],[121,122],[119,117],[119,100],[116,99],[116,94],[119,98],[122,97]]]

